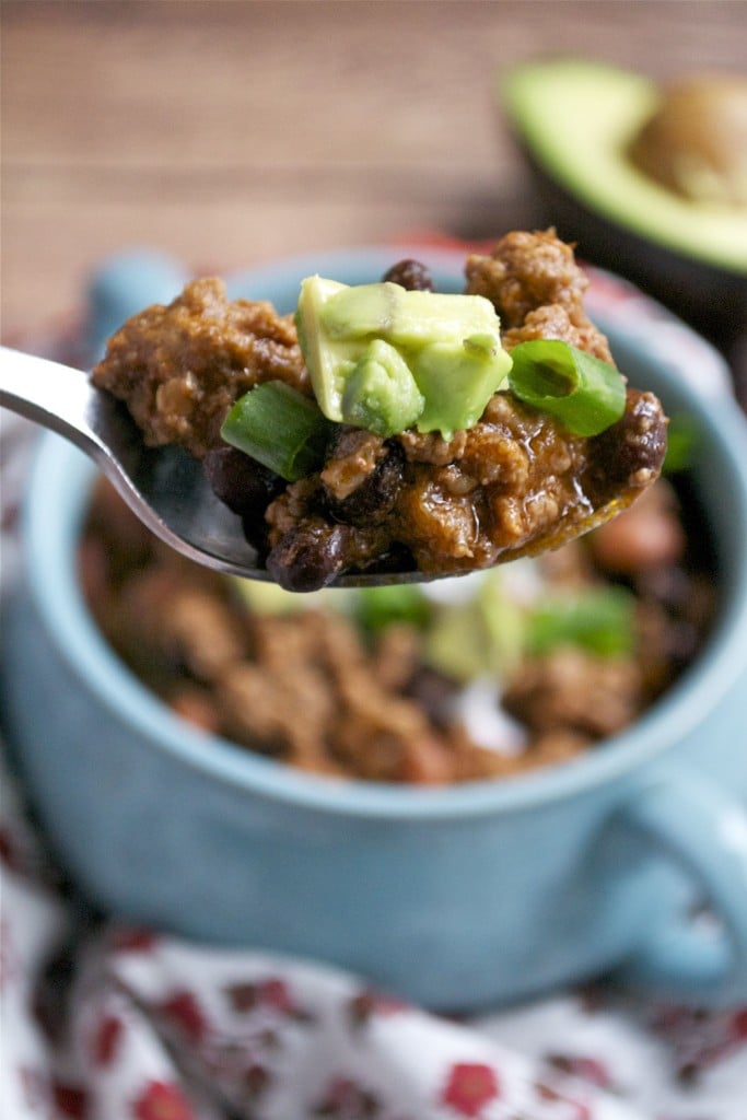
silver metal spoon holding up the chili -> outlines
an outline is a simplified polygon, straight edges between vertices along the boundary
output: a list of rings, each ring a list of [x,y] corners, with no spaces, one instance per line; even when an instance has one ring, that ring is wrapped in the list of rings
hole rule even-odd
[[[178,447],[146,447],[124,404],[96,389],[84,371],[6,346],[0,356],[0,405],[85,451],[151,532],[207,568],[272,581],[245,540],[241,520],[215,496],[198,460]],[[624,491],[581,521],[561,521],[530,545],[507,550],[498,562],[558,548],[609,520],[634,497],[634,491]],[[339,576],[334,586],[383,587],[451,575],[464,572],[358,572]]]

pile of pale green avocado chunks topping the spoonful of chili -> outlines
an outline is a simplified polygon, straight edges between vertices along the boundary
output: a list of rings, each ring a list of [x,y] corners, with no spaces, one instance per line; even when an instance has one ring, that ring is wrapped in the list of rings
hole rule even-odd
[[[296,321],[325,416],[382,436],[417,427],[451,438],[479,420],[511,368],[482,296],[308,277]]]

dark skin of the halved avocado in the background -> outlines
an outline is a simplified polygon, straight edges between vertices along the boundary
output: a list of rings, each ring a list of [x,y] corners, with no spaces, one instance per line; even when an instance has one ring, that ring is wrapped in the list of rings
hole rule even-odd
[[[729,353],[747,332],[747,277],[675,253],[589,209],[547,172],[515,134],[544,212],[563,241],[590,264],[624,276]]]

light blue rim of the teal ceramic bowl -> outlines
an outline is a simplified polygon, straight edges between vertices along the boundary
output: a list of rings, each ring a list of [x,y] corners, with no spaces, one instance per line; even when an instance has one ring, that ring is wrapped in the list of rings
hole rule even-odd
[[[395,246],[396,249],[398,246]],[[400,253],[400,255],[403,255]],[[362,282],[382,262],[391,263],[392,246],[363,246],[333,253],[305,254],[259,265],[227,278],[230,292],[253,298],[276,298],[276,288],[324,269],[328,274]],[[454,276],[457,254],[426,250],[420,259]],[[458,255],[464,263],[464,253]],[[595,314],[603,330],[615,342],[614,317]],[[687,334],[692,334],[684,328]],[[697,335],[699,345],[708,346]],[[625,339],[644,363],[690,405],[700,410],[707,439],[721,458],[737,520],[735,539],[743,547],[735,561],[738,578],[730,588],[729,612],[720,616],[695,664],[642,718],[604,746],[562,765],[530,774],[450,785],[418,787],[307,774],[211,736],[172,713],[120,661],[85,606],[76,576],[76,540],[94,465],[60,437],[45,433],[39,440],[22,510],[22,556],[32,603],[54,643],[68,665],[87,682],[100,702],[124,726],[147,740],[149,748],[164,749],[183,765],[199,769],[213,781],[296,808],[353,816],[441,820],[496,812],[514,812],[544,805],[614,782],[642,764],[660,757],[684,737],[699,713],[711,710],[747,665],[744,634],[747,632],[747,470],[744,459],[747,423],[734,401],[723,393],[711,399],[680,379],[676,371],[652,354],[641,336]],[[735,485],[730,485],[734,483]],[[741,530],[741,532],[739,532]]]

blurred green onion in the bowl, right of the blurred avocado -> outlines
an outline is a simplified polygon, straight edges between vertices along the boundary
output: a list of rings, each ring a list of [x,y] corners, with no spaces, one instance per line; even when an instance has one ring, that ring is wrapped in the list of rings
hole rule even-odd
[[[531,612],[526,650],[534,655],[576,645],[600,657],[628,656],[635,646],[635,599],[622,587],[545,598]]]

